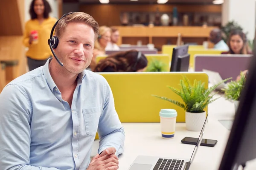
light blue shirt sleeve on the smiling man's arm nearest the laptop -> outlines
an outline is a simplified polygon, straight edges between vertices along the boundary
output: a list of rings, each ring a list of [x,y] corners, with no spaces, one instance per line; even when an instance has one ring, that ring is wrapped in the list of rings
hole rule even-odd
[[[108,147],[116,148],[116,156],[123,153],[125,131],[116,113],[114,98],[108,82],[105,81],[105,103],[99,119],[99,150],[101,153]]]

